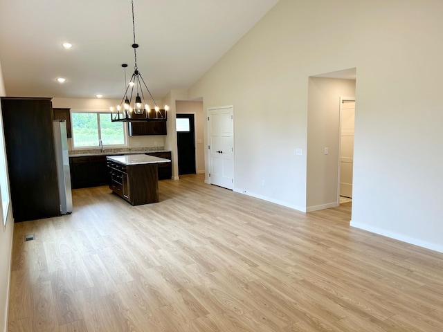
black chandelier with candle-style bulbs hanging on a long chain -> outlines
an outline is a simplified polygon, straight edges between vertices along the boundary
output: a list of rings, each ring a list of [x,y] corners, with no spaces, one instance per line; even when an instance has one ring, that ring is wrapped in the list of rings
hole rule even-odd
[[[134,48],[134,73],[132,73],[132,77],[129,80],[129,83],[126,83],[126,67],[127,64],[122,64],[122,67],[125,68],[125,94],[123,95],[122,101],[120,104],[114,109],[111,107],[111,121],[112,122],[132,122],[132,121],[165,121],[166,120],[166,111],[168,111],[168,106],[165,106],[165,109],[160,109],[157,105],[154,97],[152,97],[150,89],[148,89],[145,80],[138,71],[137,67],[137,48],[138,44],[136,44],[136,25],[134,19],[134,0],[131,0],[132,4],[132,32],[133,32],[133,44],[132,48]],[[129,98],[128,98],[129,95]],[[152,103],[154,104],[154,109],[151,109],[150,106],[145,101],[146,97],[150,97]],[[135,96],[135,98],[134,98]],[[134,102],[133,102],[134,100]]]

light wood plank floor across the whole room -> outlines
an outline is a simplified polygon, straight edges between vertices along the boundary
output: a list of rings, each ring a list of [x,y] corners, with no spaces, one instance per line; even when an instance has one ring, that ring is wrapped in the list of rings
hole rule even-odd
[[[73,190],[73,214],[15,224],[9,331],[443,331],[443,254],[350,228],[349,205],[159,189]]]

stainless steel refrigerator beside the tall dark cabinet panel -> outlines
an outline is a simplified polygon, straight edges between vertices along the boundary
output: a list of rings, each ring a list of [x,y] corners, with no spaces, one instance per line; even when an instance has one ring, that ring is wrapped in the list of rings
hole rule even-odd
[[[60,212],[72,212],[71,172],[69,170],[68,138],[65,120],[54,120],[55,160],[57,161],[58,191],[60,196]]]

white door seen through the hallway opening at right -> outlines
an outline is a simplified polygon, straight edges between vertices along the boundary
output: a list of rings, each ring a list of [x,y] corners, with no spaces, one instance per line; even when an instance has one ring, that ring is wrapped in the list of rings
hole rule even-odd
[[[340,196],[352,198],[355,100],[342,100],[340,140]]]

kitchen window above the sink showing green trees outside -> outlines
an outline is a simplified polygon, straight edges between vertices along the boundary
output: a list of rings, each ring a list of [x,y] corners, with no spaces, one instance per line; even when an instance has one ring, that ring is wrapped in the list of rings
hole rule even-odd
[[[109,113],[73,111],[71,126],[74,149],[127,145],[124,122],[111,122]]]

